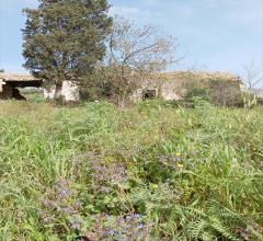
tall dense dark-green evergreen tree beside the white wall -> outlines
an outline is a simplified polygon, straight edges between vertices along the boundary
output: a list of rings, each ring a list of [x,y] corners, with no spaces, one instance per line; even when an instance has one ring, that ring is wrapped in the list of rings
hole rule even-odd
[[[106,0],[39,0],[37,9],[25,9],[24,67],[33,76],[56,87],[81,82],[105,55],[111,33]]]

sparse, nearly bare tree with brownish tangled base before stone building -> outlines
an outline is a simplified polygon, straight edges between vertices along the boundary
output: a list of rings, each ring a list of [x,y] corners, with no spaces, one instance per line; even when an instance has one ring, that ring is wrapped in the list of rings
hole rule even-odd
[[[114,20],[106,59],[96,69],[100,90],[118,106],[124,106],[157,71],[175,62],[176,41],[158,35],[156,27],[136,26],[122,18]]]

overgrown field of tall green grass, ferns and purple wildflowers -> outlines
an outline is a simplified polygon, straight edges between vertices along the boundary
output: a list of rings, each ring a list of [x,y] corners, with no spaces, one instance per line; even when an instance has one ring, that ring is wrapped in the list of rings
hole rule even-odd
[[[263,240],[262,110],[0,103],[0,240]]]

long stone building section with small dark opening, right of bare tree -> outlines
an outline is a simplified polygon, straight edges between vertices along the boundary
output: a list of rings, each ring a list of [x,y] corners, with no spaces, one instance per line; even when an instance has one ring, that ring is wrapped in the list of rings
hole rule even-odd
[[[182,100],[190,88],[209,87],[213,81],[218,81],[236,92],[242,92],[245,89],[239,77],[228,72],[160,72],[156,73],[150,80],[144,81],[141,87],[135,91],[132,101],[146,99]]]

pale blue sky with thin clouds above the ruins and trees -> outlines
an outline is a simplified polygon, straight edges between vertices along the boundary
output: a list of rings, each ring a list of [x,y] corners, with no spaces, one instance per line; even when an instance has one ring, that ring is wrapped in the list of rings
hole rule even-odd
[[[111,14],[178,37],[175,69],[206,69],[240,73],[252,60],[263,68],[263,0],[110,0]],[[23,8],[37,0],[0,0],[0,68],[22,68]]]

